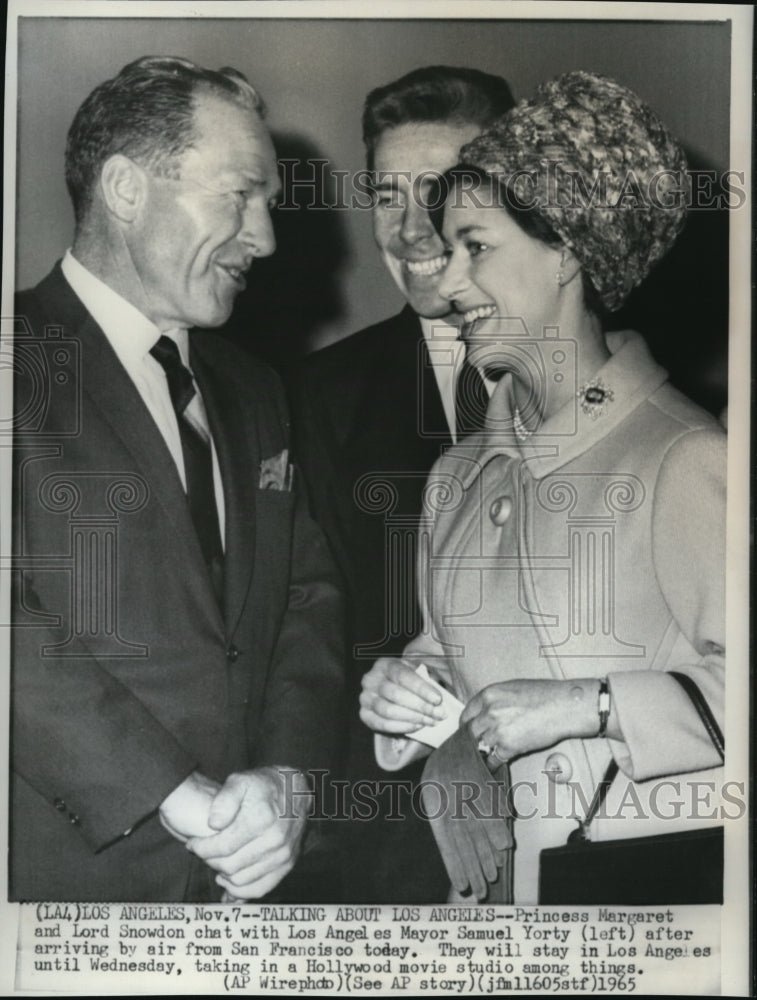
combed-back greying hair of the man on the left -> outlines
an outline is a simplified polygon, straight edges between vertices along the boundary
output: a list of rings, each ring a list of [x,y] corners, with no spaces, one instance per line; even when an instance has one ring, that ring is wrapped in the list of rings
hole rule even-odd
[[[257,91],[238,70],[204,69],[173,56],[143,56],[92,91],[66,141],[66,185],[77,226],[92,203],[103,163],[114,153],[164,175],[178,173],[178,160],[195,139],[200,89],[265,114]]]

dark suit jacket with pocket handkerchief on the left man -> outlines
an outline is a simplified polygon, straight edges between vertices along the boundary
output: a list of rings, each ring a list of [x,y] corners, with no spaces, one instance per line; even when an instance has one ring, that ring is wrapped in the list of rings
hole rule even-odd
[[[160,826],[162,799],[195,768],[332,762],[335,573],[301,494],[257,488],[289,445],[282,392],[190,335],[224,486],[222,612],[163,438],[59,267],[17,314],[10,895],[201,898],[209,870]]]

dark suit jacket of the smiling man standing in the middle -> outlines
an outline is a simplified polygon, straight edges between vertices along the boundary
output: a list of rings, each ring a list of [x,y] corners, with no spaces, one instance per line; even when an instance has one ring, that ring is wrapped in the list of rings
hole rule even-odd
[[[420,628],[416,542],[426,478],[451,436],[416,314],[361,330],[310,355],[288,380],[293,434],[313,513],[346,581],[347,640],[353,649],[345,774],[373,779],[376,822],[341,824],[345,899],[443,902],[449,879],[428,825],[398,799],[404,819],[388,818],[373,734],[358,717],[362,674],[378,656],[399,655]],[[417,782],[421,766],[401,783]],[[357,815],[365,816],[364,804]]]

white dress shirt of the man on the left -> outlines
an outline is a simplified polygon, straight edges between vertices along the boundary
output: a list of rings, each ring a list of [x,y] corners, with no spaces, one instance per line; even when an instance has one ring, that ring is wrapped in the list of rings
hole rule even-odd
[[[126,370],[126,374],[136,386],[150,416],[155,421],[158,430],[163,435],[166,446],[171,453],[182,486],[186,492],[187,481],[184,471],[184,453],[181,450],[181,436],[176,413],[171,403],[168,391],[168,380],[159,361],[150,354],[157,344],[161,331],[150,322],[130,302],[122,298],[112,288],[95,277],[91,271],[79,263],[70,250],[66,251],[61,265],[63,275],[76,295],[86,306],[90,315],[105,334],[118,360]],[[182,363],[191,372],[189,366],[189,336],[186,330],[165,330],[179,348]],[[221,541],[225,538],[226,511],[223,501],[223,483],[221,469],[218,465],[218,455],[210,434],[208,417],[200,395],[200,389],[195,382],[195,395],[186,409],[187,419],[210,442],[213,457],[213,486],[215,489],[216,507],[218,509],[218,526],[221,530]]]

